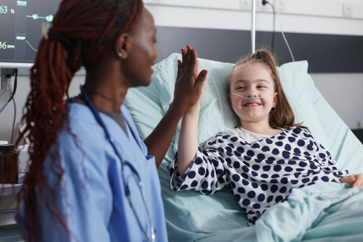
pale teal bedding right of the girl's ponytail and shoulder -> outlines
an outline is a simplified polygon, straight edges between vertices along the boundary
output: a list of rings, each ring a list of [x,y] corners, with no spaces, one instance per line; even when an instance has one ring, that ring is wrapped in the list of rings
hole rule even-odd
[[[363,145],[324,99],[307,73],[307,61],[278,67],[282,86],[295,114],[314,139],[331,152],[335,165],[352,174],[363,172]]]

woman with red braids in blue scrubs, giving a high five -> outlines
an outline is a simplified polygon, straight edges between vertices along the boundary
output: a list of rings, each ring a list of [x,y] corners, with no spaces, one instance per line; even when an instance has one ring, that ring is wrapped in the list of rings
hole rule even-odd
[[[205,83],[195,50],[182,49],[174,101],[143,140],[122,104],[130,87],[150,84],[157,57],[142,1],[64,0],[42,32],[23,116],[32,150],[17,213],[24,238],[167,241],[156,168]],[[81,66],[85,85],[69,99]]]

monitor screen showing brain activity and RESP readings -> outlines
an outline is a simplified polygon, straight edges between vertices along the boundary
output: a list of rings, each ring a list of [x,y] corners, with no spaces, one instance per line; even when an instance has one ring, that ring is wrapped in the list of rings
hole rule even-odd
[[[30,67],[61,0],[0,0],[0,67]]]

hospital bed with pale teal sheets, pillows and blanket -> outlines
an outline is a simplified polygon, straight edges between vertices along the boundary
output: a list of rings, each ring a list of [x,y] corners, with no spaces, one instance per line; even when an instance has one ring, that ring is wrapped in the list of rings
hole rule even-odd
[[[154,74],[150,86],[132,88],[127,93],[124,103],[143,137],[147,137],[156,127],[173,99],[177,58],[181,60],[179,54],[171,54],[153,67]],[[202,146],[219,132],[238,126],[238,122],[229,108],[227,99],[227,78],[233,64],[204,59],[199,61],[200,69],[208,70],[198,127],[199,144]],[[314,86],[314,81],[308,74],[307,61],[285,63],[278,67],[278,72],[294,110],[295,123],[303,122],[304,126],[309,127],[314,138],[331,151],[338,169],[362,173],[363,145]],[[290,205],[289,208],[275,205],[276,208],[270,209],[272,212],[259,219],[263,224],[261,222],[260,226],[251,227],[248,227],[246,214],[229,189],[210,196],[197,191],[174,192],[170,188],[167,165],[177,150],[179,131],[180,123],[158,168],[170,241],[362,240],[361,188],[349,190],[344,184],[335,184],[339,187],[310,186],[311,189],[296,189],[301,191],[294,197],[303,204],[286,203]],[[353,190],[358,192],[354,193]],[[329,194],[335,196],[320,197],[319,194],[323,191],[329,191]],[[352,196],[343,199],[347,194],[349,197]],[[311,200],[312,197],[315,200]],[[343,200],[334,200],[337,197]],[[340,205],[325,209],[324,206],[328,205],[322,205],[319,203],[321,201]],[[354,206],[356,208],[350,209]],[[300,209],[292,211],[291,207]],[[321,208],[318,214],[314,208]],[[347,212],[344,209],[350,210]],[[328,216],[327,210],[331,216]],[[286,214],[286,211],[289,211],[289,214]],[[299,214],[294,214],[296,212]],[[269,224],[269,221],[274,221],[274,224]],[[297,222],[298,227],[292,229],[291,226]]]

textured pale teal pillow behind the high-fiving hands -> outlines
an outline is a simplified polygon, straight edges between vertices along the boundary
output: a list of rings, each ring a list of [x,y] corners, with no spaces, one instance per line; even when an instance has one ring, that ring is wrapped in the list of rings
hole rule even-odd
[[[181,54],[174,53],[154,66],[152,82],[160,91],[160,103],[165,112],[174,99],[178,59],[181,60]],[[198,60],[199,69],[208,70],[198,124],[198,141],[199,145],[203,146],[212,136],[223,130],[237,127],[238,119],[229,107],[227,97],[228,75],[234,65],[200,58]],[[174,152],[178,150],[180,125],[181,121],[176,130]]]

